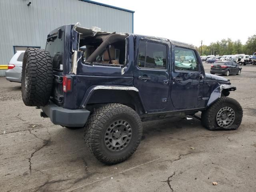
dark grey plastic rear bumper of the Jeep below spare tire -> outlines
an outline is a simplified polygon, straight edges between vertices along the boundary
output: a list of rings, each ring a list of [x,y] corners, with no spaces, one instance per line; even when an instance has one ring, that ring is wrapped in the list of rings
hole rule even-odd
[[[84,126],[90,115],[90,111],[86,109],[66,109],[57,106],[51,101],[46,106],[41,106],[41,109],[53,124],[68,127]]]

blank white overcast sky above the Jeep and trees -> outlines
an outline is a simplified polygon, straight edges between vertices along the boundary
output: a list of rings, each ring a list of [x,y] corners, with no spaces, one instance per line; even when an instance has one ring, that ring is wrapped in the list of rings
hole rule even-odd
[[[134,33],[200,46],[256,34],[256,0],[94,0],[135,11]]]

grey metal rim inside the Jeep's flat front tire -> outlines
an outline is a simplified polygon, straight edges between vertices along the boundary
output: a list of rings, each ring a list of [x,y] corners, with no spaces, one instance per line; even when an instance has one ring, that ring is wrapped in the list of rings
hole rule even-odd
[[[231,107],[222,107],[216,116],[217,124],[220,127],[230,127],[235,121],[235,112]]]

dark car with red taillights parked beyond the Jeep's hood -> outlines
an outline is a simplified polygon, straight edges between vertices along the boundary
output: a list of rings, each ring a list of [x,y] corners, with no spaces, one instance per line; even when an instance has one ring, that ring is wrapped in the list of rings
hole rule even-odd
[[[229,76],[230,74],[240,75],[242,67],[236,64],[234,61],[216,61],[211,66],[211,74],[225,74]]]

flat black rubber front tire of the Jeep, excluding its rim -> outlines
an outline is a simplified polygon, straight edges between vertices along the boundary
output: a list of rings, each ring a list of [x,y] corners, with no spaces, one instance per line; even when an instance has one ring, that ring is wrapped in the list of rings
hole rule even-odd
[[[218,111],[225,106],[229,106],[234,110],[235,119],[234,122],[227,128],[220,127],[217,124],[216,116]],[[230,97],[220,97],[214,104],[212,104],[206,111],[201,114],[201,122],[208,130],[236,130],[243,118],[243,109],[241,105]]]

